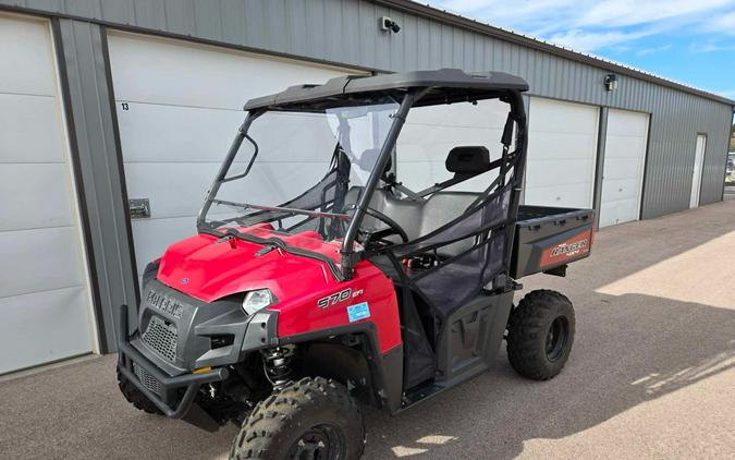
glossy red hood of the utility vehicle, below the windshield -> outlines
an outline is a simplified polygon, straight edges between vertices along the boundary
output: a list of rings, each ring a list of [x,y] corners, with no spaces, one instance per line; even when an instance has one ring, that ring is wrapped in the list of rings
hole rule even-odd
[[[260,238],[277,237],[299,247],[339,261],[339,245],[324,243],[316,232],[294,235],[241,229]],[[256,233],[257,232],[257,233]],[[267,234],[266,234],[267,233]],[[264,245],[236,238],[198,234],[171,245],[161,257],[158,279],[205,302],[254,289],[268,288],[279,300],[297,299],[338,282],[327,264],[279,249],[256,254]]]

